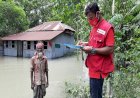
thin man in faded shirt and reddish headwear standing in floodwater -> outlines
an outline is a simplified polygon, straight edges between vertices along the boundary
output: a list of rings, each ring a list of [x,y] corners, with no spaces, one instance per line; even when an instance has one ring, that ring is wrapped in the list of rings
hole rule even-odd
[[[36,44],[36,55],[31,59],[31,89],[33,89],[33,98],[43,98],[46,95],[48,81],[48,63],[43,53],[44,44]]]

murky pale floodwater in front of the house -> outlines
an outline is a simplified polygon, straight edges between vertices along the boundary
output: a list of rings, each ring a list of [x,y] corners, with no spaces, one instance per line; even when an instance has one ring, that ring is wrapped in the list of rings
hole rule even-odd
[[[76,56],[49,60],[49,87],[45,98],[65,98],[64,82],[76,82],[83,75]],[[30,59],[0,57],[0,98],[32,98]]]

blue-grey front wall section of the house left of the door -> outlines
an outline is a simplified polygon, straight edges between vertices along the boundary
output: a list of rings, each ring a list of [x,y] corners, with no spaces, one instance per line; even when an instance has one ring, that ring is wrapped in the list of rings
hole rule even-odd
[[[6,41],[4,41],[4,55],[5,56],[17,56],[17,41],[14,41],[15,47],[12,48],[12,41],[7,41],[8,47],[6,47]]]

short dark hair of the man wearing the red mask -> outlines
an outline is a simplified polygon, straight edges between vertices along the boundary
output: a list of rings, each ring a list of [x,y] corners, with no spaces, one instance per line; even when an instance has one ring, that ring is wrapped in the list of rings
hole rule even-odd
[[[90,12],[96,14],[97,11],[100,11],[100,9],[99,9],[99,6],[97,5],[97,3],[94,2],[94,3],[89,4],[86,7],[86,9],[85,9],[85,15],[87,16],[87,14],[90,13]]]

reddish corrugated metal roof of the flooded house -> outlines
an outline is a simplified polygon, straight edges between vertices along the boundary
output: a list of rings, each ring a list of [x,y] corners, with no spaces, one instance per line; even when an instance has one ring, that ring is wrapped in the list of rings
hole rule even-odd
[[[74,29],[60,21],[45,22],[25,32],[3,37],[2,40],[51,40],[66,29],[74,32]]]

